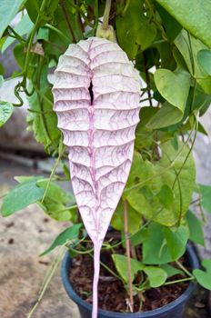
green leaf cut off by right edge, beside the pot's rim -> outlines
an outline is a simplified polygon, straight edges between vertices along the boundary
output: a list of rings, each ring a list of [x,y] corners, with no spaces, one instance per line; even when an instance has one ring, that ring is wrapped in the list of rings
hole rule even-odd
[[[202,261],[202,265],[206,271],[196,269],[193,271],[193,274],[196,277],[197,283],[211,291],[211,260]]]

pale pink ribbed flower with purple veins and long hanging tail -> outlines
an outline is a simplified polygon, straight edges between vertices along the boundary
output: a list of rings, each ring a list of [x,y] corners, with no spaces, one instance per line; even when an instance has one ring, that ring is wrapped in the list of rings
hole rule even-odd
[[[100,250],[133,158],[139,91],[126,54],[105,39],[69,45],[55,70],[54,110],[69,151],[76,203],[94,243],[93,318]]]

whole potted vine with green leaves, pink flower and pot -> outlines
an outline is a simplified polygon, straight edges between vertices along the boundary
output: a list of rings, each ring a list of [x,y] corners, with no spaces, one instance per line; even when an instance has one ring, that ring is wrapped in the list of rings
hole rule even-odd
[[[24,17],[14,29],[18,10]],[[42,255],[68,249],[63,282],[82,317],[180,317],[196,282],[211,289],[211,261],[200,270],[187,245],[204,244],[204,215],[189,206],[206,205],[210,194],[196,184],[192,155],[211,96],[204,10],[187,1],[28,0],[3,19],[2,51],[19,42],[13,77],[21,80],[19,102],[1,102],[0,124],[24,91],[29,129],[56,160],[49,178],[18,177],[1,211],[37,203],[72,222]],[[55,66],[54,104],[47,75]],[[75,196],[55,184],[70,179],[67,153]]]

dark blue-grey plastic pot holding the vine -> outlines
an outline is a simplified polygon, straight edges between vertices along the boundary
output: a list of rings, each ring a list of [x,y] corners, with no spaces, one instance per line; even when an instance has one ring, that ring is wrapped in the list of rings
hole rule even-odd
[[[199,263],[194,249],[188,244],[186,248],[186,254],[192,269],[198,268]],[[71,268],[71,258],[68,252],[65,253],[65,257],[62,262],[62,281],[65,286],[65,291],[69,297],[77,304],[81,318],[92,317],[92,306],[85,303],[74,291],[69,282],[69,271]],[[99,309],[98,318],[182,318],[185,305],[194,292],[196,287],[195,283],[190,283],[185,293],[178,297],[174,302],[168,303],[162,308],[155,309],[153,311],[145,313],[113,313]]]

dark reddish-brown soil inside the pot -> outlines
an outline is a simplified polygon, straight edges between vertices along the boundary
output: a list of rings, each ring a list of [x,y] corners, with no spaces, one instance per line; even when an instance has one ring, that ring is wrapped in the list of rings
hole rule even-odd
[[[117,253],[124,253],[124,250],[118,250]],[[101,261],[116,272],[115,265],[111,255],[107,251],[102,251]],[[181,261],[181,260],[180,260]],[[186,263],[186,260],[182,260]],[[77,293],[85,302],[92,303],[92,282],[93,282],[93,258],[87,254],[79,254],[73,259],[70,270],[70,282]],[[176,280],[184,276],[176,275],[172,279]],[[138,278],[137,278],[138,279]],[[188,283],[175,283],[159,288],[151,288],[143,295],[134,297],[134,311],[149,311],[171,303],[185,292]],[[140,299],[142,300],[140,302]],[[98,286],[98,306],[101,309],[111,312],[129,312],[128,295],[124,284],[112,276],[102,265],[100,271],[100,280]],[[140,306],[140,303],[141,306]]]

